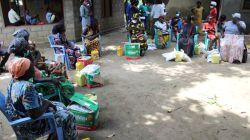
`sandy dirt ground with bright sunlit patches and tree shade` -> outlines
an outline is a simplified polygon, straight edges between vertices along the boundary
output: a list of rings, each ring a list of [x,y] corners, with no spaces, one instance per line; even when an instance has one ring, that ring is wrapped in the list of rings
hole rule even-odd
[[[250,64],[210,64],[196,56],[191,63],[166,62],[162,53],[148,51],[134,61],[116,56],[126,41],[116,31],[102,37],[104,56],[97,62],[105,86],[96,92],[100,104],[99,127],[79,131],[91,140],[248,140],[250,138]],[[174,45],[174,44],[173,44]],[[48,45],[39,46],[48,58]],[[74,71],[70,72],[73,75]],[[8,74],[0,75],[6,93]],[[3,119],[0,140],[15,139]],[[114,134],[113,137],[107,136]]]

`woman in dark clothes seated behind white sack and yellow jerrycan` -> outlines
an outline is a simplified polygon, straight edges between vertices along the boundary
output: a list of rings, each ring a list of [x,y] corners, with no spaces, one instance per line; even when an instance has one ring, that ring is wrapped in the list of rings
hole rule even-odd
[[[193,24],[193,19],[191,16],[187,16],[186,24],[183,27],[183,32],[180,34],[179,39],[179,49],[184,50],[184,52],[189,56],[193,57],[194,50],[194,35],[196,33],[195,25]]]

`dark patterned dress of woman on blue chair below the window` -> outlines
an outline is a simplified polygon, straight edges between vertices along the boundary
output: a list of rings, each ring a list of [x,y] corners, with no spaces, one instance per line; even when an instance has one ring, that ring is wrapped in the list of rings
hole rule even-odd
[[[70,64],[72,67],[75,67],[75,63],[77,61],[77,58],[81,56],[80,48],[75,47],[72,42],[69,42],[65,36],[65,34],[54,34],[54,41],[56,45],[63,45],[66,49],[66,53],[69,56]],[[62,50],[57,50],[62,51]]]

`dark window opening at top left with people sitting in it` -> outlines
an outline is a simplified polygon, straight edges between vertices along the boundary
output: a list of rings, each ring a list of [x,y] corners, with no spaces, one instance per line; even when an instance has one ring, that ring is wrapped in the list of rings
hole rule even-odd
[[[47,23],[46,13],[50,8],[55,15],[54,22],[63,19],[63,0],[1,0],[2,12],[5,26],[11,25],[8,19],[8,12],[13,6],[14,11],[21,17],[21,25],[29,25],[25,20],[26,11],[30,12],[32,17],[37,18],[38,23]]]

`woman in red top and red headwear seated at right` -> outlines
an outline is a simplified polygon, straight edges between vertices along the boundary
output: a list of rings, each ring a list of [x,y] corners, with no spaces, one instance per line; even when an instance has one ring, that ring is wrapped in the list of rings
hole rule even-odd
[[[213,49],[213,44],[218,39],[216,36],[216,23],[212,21],[212,17],[208,17],[208,22],[203,24],[203,31],[206,31],[208,34],[209,42],[209,50]]]

